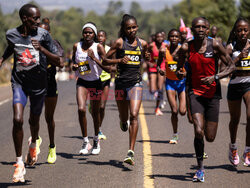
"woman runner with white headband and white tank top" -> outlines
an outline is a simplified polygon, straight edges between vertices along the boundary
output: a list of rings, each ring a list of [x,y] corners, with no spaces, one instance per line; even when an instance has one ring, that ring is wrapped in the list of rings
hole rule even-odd
[[[106,56],[105,49],[97,43],[97,29],[94,23],[88,22],[82,28],[82,39],[73,46],[72,60],[73,70],[76,71],[76,99],[78,104],[79,124],[83,136],[82,149],[80,154],[88,154],[92,146],[87,136],[86,101],[88,94],[90,105],[92,106],[91,115],[94,122],[95,135],[93,139],[92,154],[100,153],[100,142],[98,138],[100,126],[100,98],[102,94],[102,83],[100,75],[102,69],[101,60]]]

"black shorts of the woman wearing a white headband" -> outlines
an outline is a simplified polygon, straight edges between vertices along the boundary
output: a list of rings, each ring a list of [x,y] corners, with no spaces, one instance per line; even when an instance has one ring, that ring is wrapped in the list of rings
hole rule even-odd
[[[90,94],[90,100],[94,100],[93,97],[99,96],[102,94],[102,81],[94,80],[94,81],[87,81],[81,78],[77,79],[76,88],[84,87],[88,89]],[[99,97],[98,97],[99,98]]]

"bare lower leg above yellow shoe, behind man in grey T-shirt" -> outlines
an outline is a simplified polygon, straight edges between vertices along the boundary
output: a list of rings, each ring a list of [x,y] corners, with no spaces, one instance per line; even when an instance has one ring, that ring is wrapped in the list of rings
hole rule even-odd
[[[55,97],[45,97],[45,119],[48,126],[49,133],[49,141],[50,147],[53,148],[55,146],[55,121],[54,121],[54,113],[57,104],[57,96]]]

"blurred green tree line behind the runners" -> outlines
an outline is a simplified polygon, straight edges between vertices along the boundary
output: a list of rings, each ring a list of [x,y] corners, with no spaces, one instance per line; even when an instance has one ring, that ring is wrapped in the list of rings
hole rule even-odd
[[[81,29],[84,23],[91,21],[98,29],[105,30],[108,34],[108,41],[118,37],[120,22],[123,11],[121,1],[110,1],[107,10],[103,15],[94,11],[84,12],[84,8],[71,7],[68,10],[47,11],[36,4],[43,17],[51,20],[52,37],[59,40],[65,50],[71,50],[75,42],[81,38]],[[240,0],[236,5],[235,0],[183,0],[173,7],[165,7],[159,11],[144,11],[137,2],[132,2],[129,14],[136,17],[139,31],[138,35],[145,40],[157,31],[166,33],[172,28],[179,28],[180,18],[183,18],[186,26],[191,26],[191,21],[197,16],[205,16],[210,25],[219,28],[219,36],[225,41],[238,16],[244,16],[250,20],[250,0]],[[5,32],[20,25],[18,10],[10,14],[3,14],[0,9],[0,52],[3,53],[7,46]]]

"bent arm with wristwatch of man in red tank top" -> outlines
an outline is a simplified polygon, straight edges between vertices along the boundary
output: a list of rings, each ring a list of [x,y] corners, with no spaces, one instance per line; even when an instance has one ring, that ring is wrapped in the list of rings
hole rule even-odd
[[[233,63],[227,50],[219,41],[213,40],[213,49],[221,59],[221,62],[226,65],[225,69],[217,74],[218,79],[221,79],[228,76],[235,70],[235,64]],[[213,83],[213,81],[215,81],[215,75],[202,78],[201,81],[207,85],[210,85]]]

